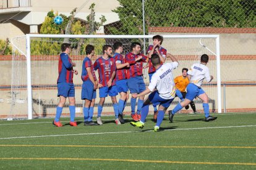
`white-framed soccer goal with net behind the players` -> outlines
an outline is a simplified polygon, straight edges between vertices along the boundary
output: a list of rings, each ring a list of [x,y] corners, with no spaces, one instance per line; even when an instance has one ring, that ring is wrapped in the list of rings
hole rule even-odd
[[[58,78],[58,60],[61,53],[61,44],[69,41],[72,45],[70,58],[76,63],[74,69],[79,71],[79,75],[74,75],[76,116],[82,116],[83,101],[81,100],[82,62],[85,57],[85,46],[92,44],[95,46],[95,56],[92,59],[94,63],[102,55],[102,47],[105,44],[113,45],[114,42],[122,42],[125,55],[130,52],[131,42],[140,42],[142,44],[142,53],[147,51],[147,47],[153,44],[153,35],[147,36],[105,36],[105,35],[46,35],[46,34],[28,34],[27,37],[13,38],[12,43],[12,102],[9,113],[10,119],[20,118],[45,118],[54,117],[56,106],[59,102],[57,97],[57,78]],[[218,43],[217,35],[164,35],[162,46],[167,52],[173,54],[179,60],[179,67],[173,71],[174,78],[182,75],[182,68],[190,68],[193,63],[200,60],[202,54],[210,56],[210,62],[207,64],[210,74],[214,79],[211,83],[203,83],[203,89],[210,99],[210,111],[221,112],[220,108],[220,88],[218,90]],[[27,47],[26,47],[27,44]],[[145,44],[145,46],[143,45]],[[114,52],[113,52],[114,53]],[[220,59],[220,58],[219,58]],[[171,62],[167,59],[166,62]],[[146,86],[149,84],[148,68],[143,69],[143,78]],[[220,71],[220,70],[219,70]],[[98,71],[95,72],[98,78]],[[220,79],[219,79],[220,83]],[[219,86],[220,87],[220,86]],[[117,101],[119,95],[116,96]],[[94,115],[97,113],[97,105],[100,100],[98,90],[95,101]],[[169,107],[173,109],[179,99],[176,97]],[[200,99],[194,99],[197,111],[203,113],[202,102]],[[124,109],[124,115],[130,115],[130,98]],[[153,107],[150,107],[150,113],[153,113]],[[192,113],[192,109],[182,109],[181,113]],[[63,116],[69,116],[69,102],[62,111]],[[113,104],[110,97],[106,97],[102,115],[113,115]]]

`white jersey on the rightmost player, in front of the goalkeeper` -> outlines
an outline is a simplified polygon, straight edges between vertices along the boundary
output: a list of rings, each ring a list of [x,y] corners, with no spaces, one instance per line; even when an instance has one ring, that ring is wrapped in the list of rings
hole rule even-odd
[[[206,79],[207,82],[211,81],[209,68],[202,63],[195,63],[192,65],[191,69],[187,71],[187,74],[191,76],[190,83],[193,83],[198,87],[202,86],[203,79]]]

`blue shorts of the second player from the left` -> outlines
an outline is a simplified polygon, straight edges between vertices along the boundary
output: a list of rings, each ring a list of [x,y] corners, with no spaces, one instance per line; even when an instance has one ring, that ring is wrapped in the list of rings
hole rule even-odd
[[[93,83],[89,79],[83,81],[81,99],[82,100],[91,100],[96,98],[96,91],[93,90]]]

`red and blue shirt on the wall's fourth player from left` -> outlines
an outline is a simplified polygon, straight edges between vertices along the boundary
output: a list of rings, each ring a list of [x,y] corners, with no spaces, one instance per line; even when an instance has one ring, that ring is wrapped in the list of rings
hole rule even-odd
[[[124,60],[124,57],[122,56],[122,54],[119,54],[119,53],[115,53],[113,55],[114,57],[114,60],[116,61],[116,63],[125,63],[125,60]],[[116,68],[116,78],[115,78],[115,81],[118,81],[118,80],[121,80],[121,79],[126,79],[126,67],[124,68],[120,68],[120,69],[117,69]]]

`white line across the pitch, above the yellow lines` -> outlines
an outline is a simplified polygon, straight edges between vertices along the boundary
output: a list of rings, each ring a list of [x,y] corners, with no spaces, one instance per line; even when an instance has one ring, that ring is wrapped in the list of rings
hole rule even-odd
[[[182,130],[198,130],[198,129],[219,129],[219,128],[233,128],[233,127],[255,127],[256,125],[244,125],[244,126],[220,126],[220,127],[195,127],[195,128],[184,128],[184,129],[166,129],[164,131],[182,131]],[[83,135],[97,135],[97,134],[121,134],[121,133],[133,133],[141,131],[124,131],[124,132],[98,132],[98,133],[87,133],[87,134],[59,134],[59,135],[46,135],[46,136],[20,136],[20,137],[2,137],[0,139],[22,139],[22,138],[36,138],[36,137],[59,137],[59,136],[83,136]],[[153,132],[147,130],[144,132]]]

